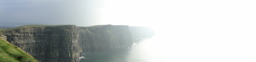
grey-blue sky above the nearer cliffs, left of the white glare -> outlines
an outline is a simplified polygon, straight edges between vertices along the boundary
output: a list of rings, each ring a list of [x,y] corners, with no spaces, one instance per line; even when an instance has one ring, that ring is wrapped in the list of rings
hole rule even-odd
[[[1,0],[0,21],[11,24],[100,24],[96,0]]]

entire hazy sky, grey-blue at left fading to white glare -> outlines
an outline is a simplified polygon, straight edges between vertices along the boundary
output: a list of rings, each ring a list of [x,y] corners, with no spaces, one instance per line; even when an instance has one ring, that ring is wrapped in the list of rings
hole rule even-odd
[[[0,0],[0,24],[252,24],[254,0]]]

